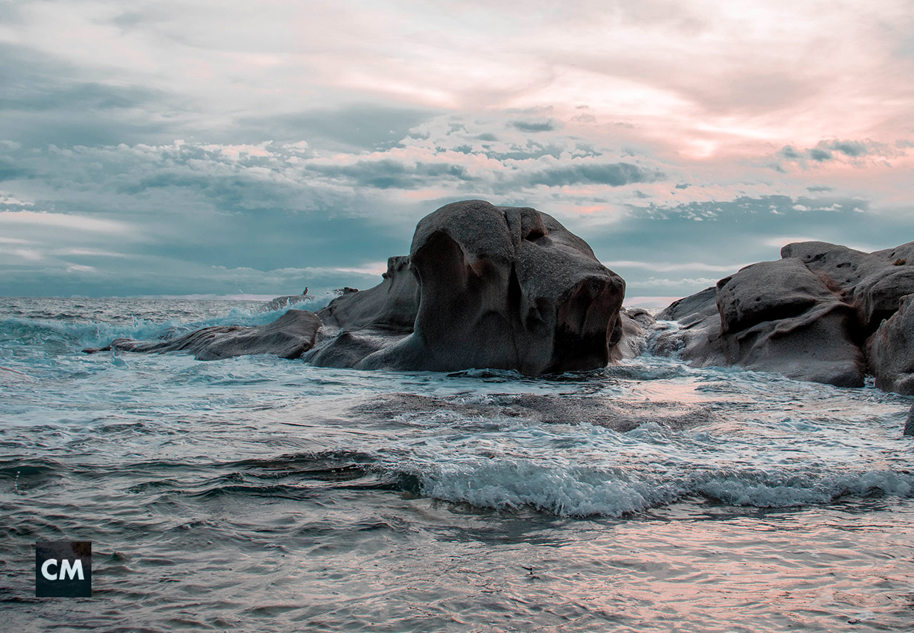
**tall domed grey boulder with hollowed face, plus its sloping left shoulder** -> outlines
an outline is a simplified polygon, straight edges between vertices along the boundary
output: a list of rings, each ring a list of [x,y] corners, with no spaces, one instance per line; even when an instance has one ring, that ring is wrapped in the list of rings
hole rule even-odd
[[[408,332],[413,315],[409,335],[356,367],[493,367],[526,375],[593,369],[610,362],[622,336],[622,278],[536,209],[481,200],[442,206],[416,227],[409,270],[411,281],[399,280],[405,271],[395,269],[376,289],[321,312],[325,322],[345,328],[347,349],[370,349],[367,339],[377,345],[385,329]],[[338,358],[322,359],[320,351],[310,357],[314,364]]]

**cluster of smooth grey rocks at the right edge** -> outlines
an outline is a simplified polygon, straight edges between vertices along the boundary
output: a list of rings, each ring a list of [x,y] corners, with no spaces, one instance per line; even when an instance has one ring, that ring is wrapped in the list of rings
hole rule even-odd
[[[907,261],[914,242],[874,253],[789,244],[780,260],[747,266],[658,314],[678,328],[661,332],[655,351],[830,385],[862,386],[870,373],[881,388],[914,393]]]

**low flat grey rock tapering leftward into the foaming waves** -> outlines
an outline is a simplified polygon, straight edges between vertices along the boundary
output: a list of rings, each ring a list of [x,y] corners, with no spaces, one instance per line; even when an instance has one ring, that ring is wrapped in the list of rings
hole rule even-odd
[[[115,339],[111,345],[89,348],[85,352],[123,350],[125,352],[189,352],[197,360],[214,361],[232,356],[271,353],[282,358],[298,358],[314,346],[321,321],[312,312],[290,310],[274,322],[256,327],[218,325],[190,332],[168,341]]]

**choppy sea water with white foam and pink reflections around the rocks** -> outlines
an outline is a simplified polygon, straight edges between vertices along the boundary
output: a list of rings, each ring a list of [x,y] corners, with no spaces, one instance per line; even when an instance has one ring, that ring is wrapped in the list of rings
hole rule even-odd
[[[5,630],[914,628],[909,398],[80,353],[261,306],[0,298]],[[92,598],[34,597],[39,540],[93,543]]]

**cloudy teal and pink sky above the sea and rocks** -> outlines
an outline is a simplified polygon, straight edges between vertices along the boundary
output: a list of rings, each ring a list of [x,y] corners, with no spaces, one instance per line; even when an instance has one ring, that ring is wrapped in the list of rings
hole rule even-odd
[[[631,299],[914,240],[914,0],[6,0],[0,86],[0,295],[364,289],[467,198]]]

